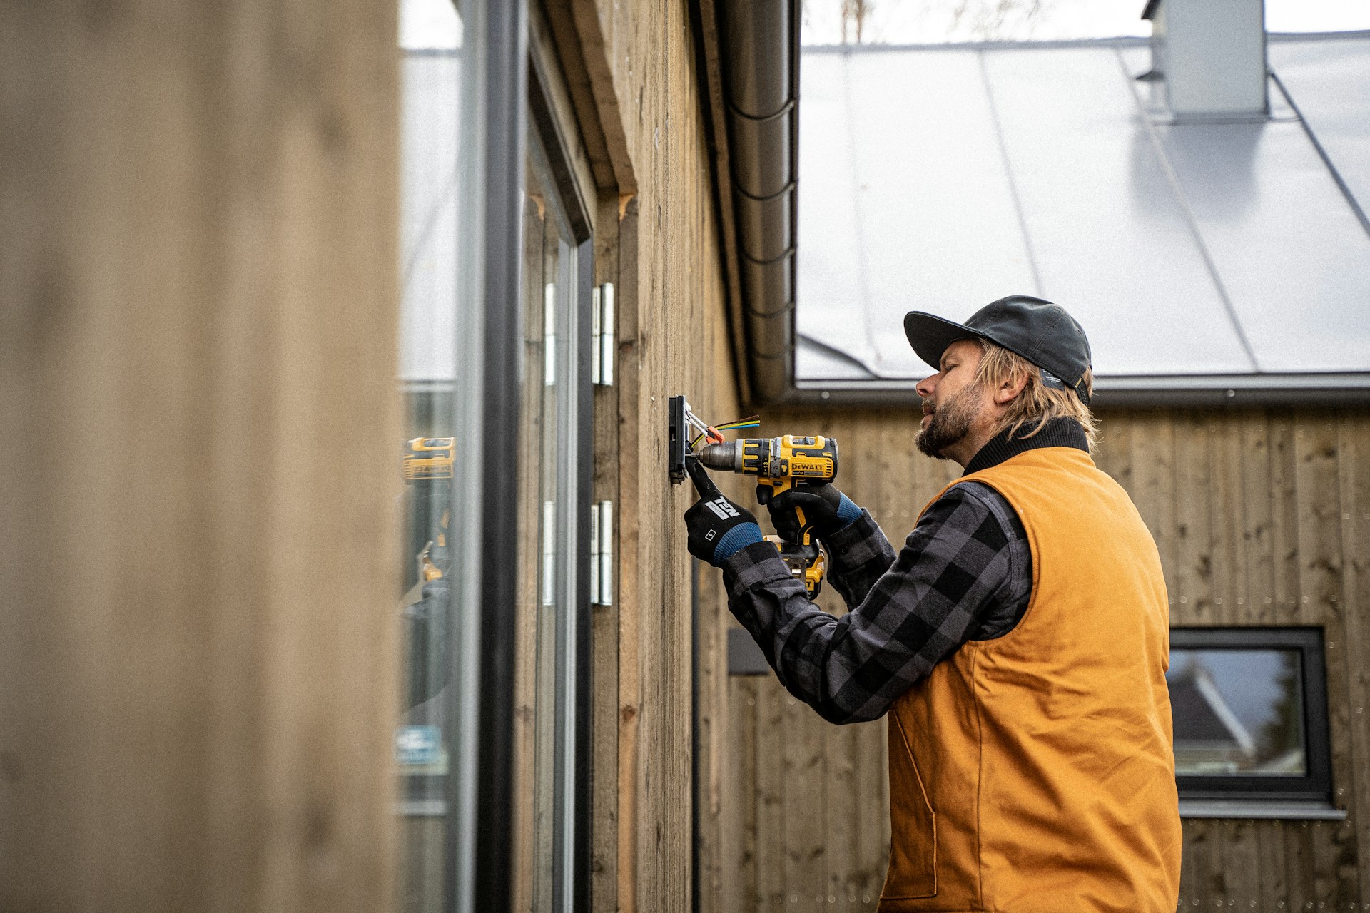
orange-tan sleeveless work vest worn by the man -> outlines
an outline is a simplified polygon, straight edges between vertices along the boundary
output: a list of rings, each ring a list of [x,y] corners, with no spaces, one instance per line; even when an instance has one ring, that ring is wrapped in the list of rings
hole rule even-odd
[[[889,710],[880,913],[1173,913],[1181,831],[1156,543],[1084,450],[1038,448],[960,482],[1018,512],[1032,597],[1012,631],[963,645]]]

